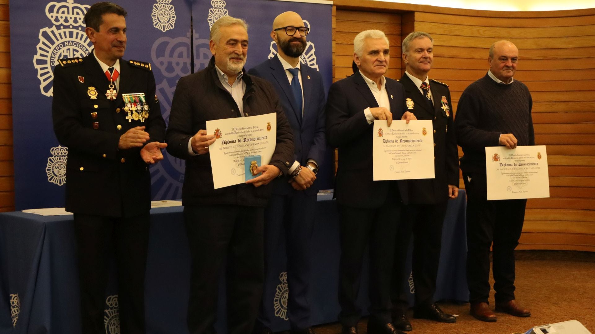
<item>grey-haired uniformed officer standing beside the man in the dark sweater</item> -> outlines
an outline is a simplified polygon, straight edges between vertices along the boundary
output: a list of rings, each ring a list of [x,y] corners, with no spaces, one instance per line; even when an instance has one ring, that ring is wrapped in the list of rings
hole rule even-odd
[[[409,272],[405,272],[409,240],[414,235],[413,279],[415,285],[414,317],[440,322],[455,322],[434,302],[436,276],[440,260],[442,224],[449,198],[458,196],[459,163],[448,86],[428,79],[433,61],[433,39],[424,32],[413,32],[403,39],[405,74],[399,80],[405,87],[406,105],[418,120],[431,120],[434,137],[434,179],[409,180],[409,205],[403,210],[395,243],[393,272],[393,324],[397,329],[412,330],[405,316],[409,305],[403,291]],[[430,134],[429,129],[424,129]]]

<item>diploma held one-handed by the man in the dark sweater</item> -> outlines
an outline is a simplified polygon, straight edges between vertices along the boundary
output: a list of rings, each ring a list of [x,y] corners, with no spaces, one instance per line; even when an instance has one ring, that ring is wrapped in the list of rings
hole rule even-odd
[[[550,196],[546,146],[486,147],[487,199]]]

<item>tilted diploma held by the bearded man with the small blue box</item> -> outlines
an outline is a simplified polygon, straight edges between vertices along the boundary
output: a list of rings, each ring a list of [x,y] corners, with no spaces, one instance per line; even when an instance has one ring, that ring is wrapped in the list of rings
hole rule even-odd
[[[261,156],[267,165],[277,143],[277,113],[206,121],[206,133],[215,135],[209,146],[215,189],[246,182],[244,158]]]

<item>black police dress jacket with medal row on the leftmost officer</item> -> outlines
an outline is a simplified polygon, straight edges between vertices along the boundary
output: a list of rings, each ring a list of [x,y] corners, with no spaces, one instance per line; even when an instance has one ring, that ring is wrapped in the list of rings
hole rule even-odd
[[[118,142],[136,126],[146,127],[148,142],[162,142],[165,122],[151,66],[121,59],[120,72],[118,96],[110,101],[105,96],[109,80],[92,53],[61,60],[55,67],[52,118],[58,141],[68,147],[67,211],[131,217],[151,209],[151,176],[140,148],[118,149]],[[125,118],[124,93],[145,93],[149,105],[145,121]]]

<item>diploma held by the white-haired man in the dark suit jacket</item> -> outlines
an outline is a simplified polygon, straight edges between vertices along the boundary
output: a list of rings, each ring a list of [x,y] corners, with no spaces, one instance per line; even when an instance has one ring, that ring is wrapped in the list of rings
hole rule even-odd
[[[374,181],[433,179],[434,133],[431,120],[374,120],[372,136]]]

